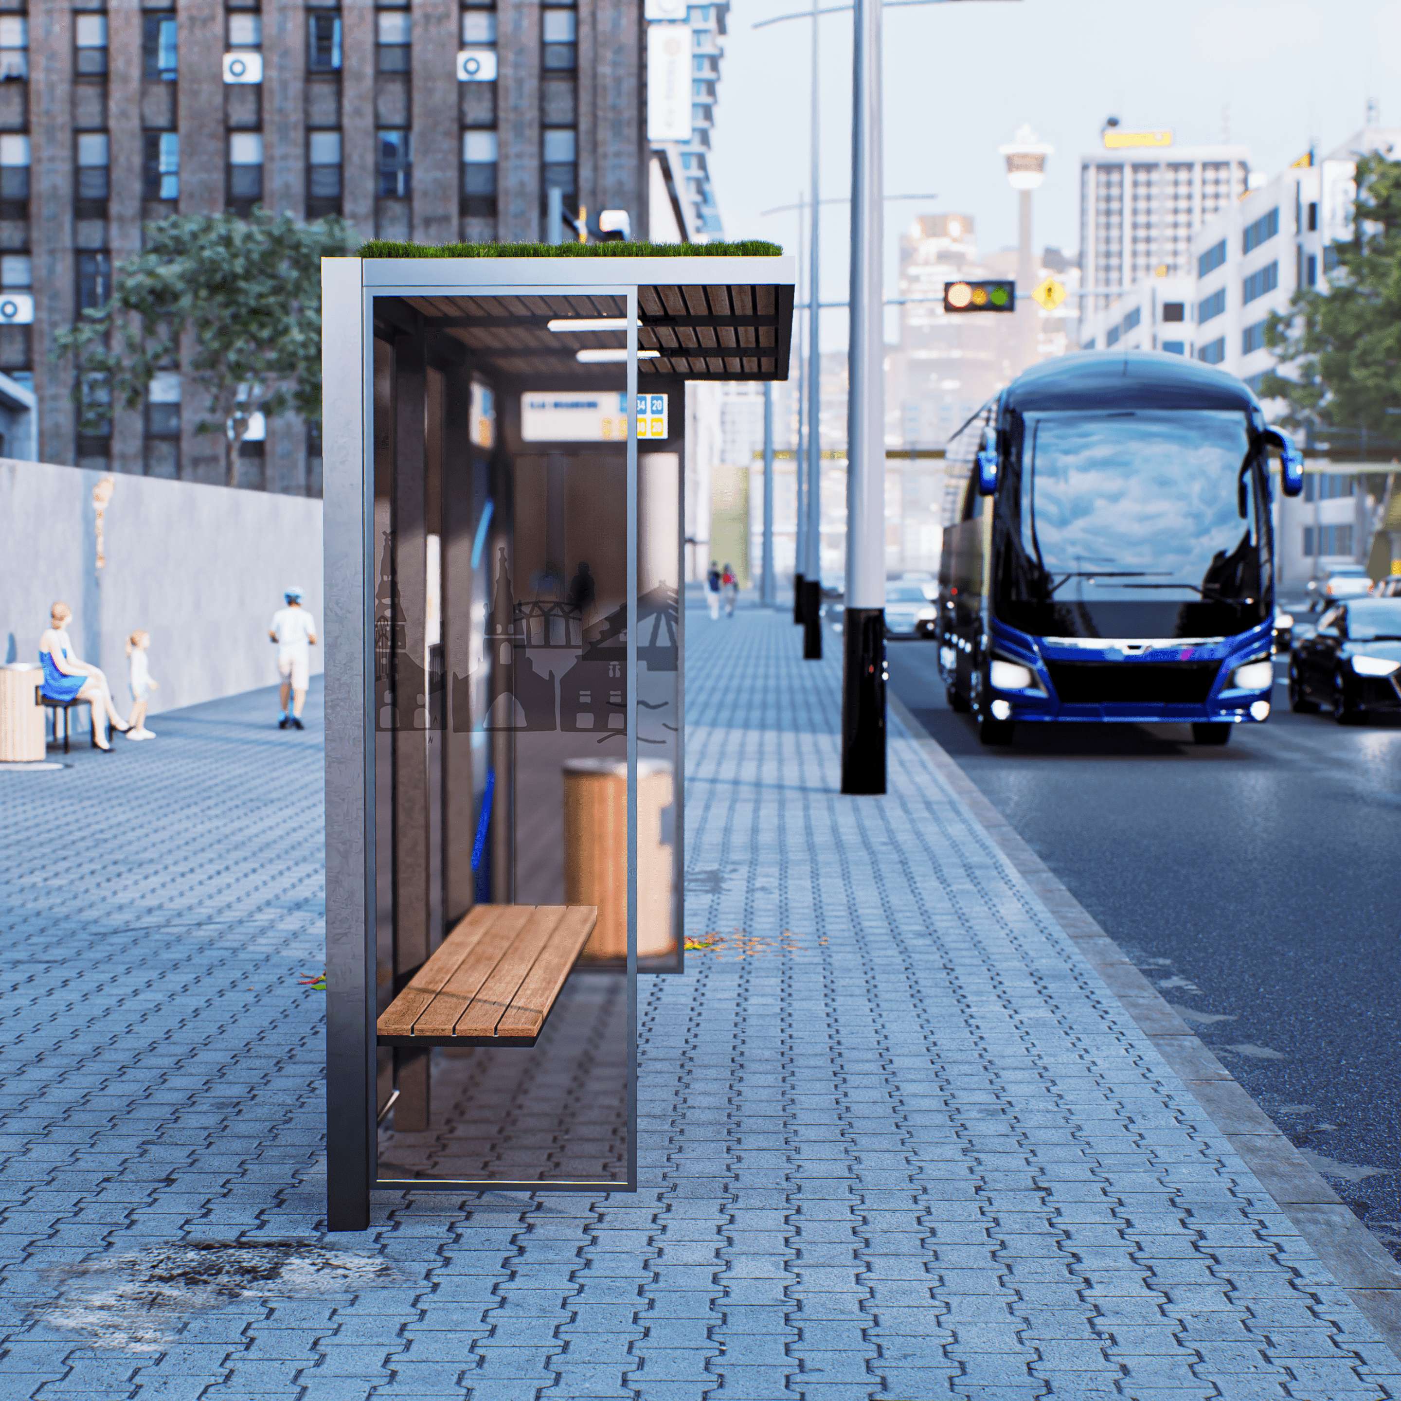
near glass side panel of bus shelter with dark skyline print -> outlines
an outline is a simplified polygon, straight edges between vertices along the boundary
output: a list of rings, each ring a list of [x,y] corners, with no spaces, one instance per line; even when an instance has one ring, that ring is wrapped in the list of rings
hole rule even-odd
[[[381,1185],[635,1181],[635,870],[678,957],[678,517],[672,474],[670,555],[632,579],[626,317],[374,301]],[[670,679],[639,686],[649,590]],[[636,766],[630,689],[660,736]]]

